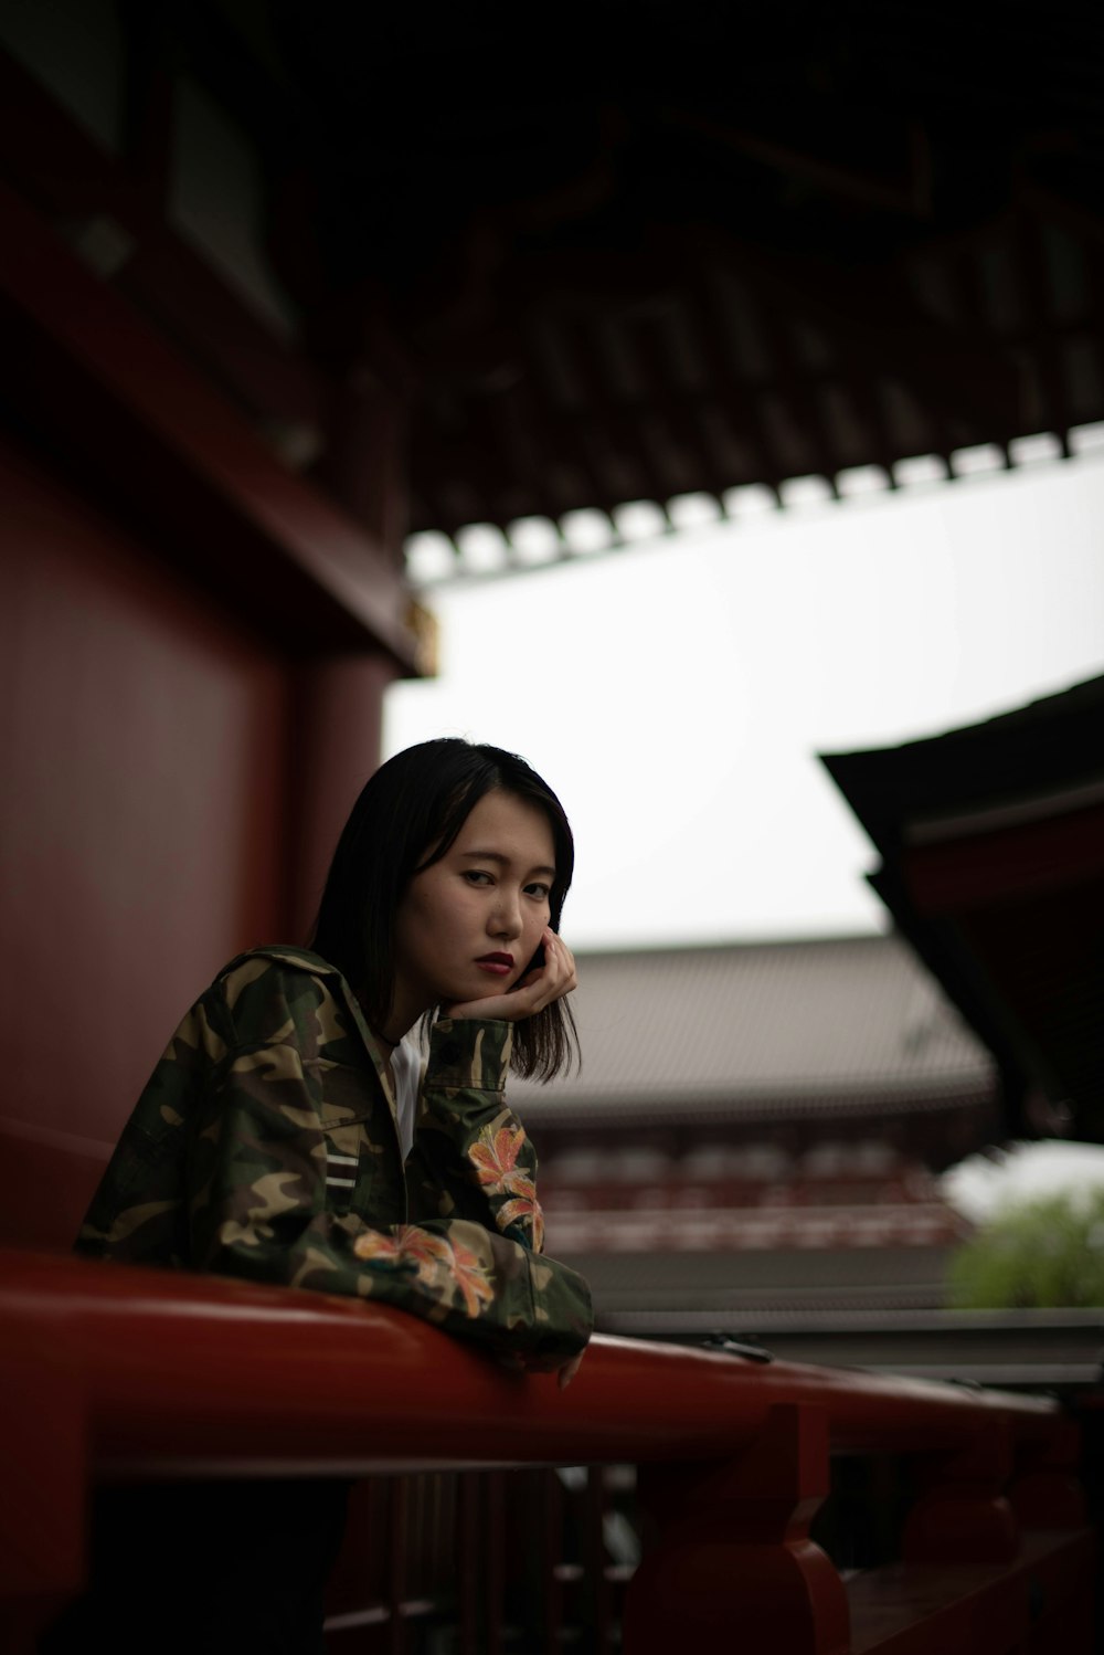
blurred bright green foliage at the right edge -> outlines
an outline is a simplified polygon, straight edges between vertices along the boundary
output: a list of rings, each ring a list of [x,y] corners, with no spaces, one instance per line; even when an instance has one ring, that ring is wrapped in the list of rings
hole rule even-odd
[[[1104,1304],[1104,1190],[997,1213],[950,1261],[960,1311]]]

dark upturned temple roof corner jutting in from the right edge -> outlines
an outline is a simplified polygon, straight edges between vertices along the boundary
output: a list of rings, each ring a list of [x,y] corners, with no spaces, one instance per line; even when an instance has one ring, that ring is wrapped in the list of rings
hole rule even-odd
[[[1008,1135],[1104,1139],[1104,679],[825,758],[871,884],[1002,1071]]]

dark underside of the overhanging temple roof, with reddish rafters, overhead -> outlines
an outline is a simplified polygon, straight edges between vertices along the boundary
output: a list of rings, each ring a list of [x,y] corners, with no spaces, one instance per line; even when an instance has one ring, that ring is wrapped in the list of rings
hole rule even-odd
[[[195,12],[314,349],[402,364],[415,530],[1104,419],[1096,5]]]

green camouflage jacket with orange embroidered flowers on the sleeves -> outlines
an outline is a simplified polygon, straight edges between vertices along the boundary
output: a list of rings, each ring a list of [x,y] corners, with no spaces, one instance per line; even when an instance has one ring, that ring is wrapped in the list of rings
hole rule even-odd
[[[233,960],[142,1092],[78,1251],[380,1299],[555,1362],[592,1326],[544,1258],[535,1155],[506,1109],[512,1026],[441,1019],[405,1167],[388,1069],[340,973]]]

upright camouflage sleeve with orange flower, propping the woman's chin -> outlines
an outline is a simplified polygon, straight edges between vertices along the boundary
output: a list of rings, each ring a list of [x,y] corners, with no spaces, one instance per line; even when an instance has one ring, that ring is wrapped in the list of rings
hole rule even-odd
[[[416,1218],[469,1218],[542,1253],[537,1155],[504,1096],[512,1034],[511,1023],[433,1024],[407,1190]]]

